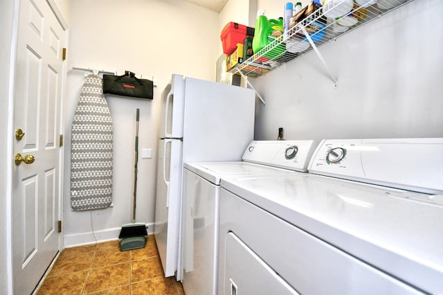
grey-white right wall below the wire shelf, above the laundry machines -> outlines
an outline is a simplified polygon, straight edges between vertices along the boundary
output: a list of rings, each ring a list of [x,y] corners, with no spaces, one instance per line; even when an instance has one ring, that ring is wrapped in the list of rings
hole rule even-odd
[[[442,137],[442,12],[413,1],[321,46],[337,89],[314,52],[252,79],[255,139]]]

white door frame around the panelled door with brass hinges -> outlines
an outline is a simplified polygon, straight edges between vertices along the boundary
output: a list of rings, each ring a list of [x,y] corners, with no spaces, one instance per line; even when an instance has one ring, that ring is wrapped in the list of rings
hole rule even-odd
[[[13,120],[14,120],[14,86],[15,86],[15,60],[17,55],[18,24],[20,2],[23,0],[3,0],[0,5],[2,18],[1,25],[4,28],[4,34],[1,35],[0,46],[10,44],[0,55],[0,61],[6,65],[5,70],[0,73],[0,195],[5,196],[0,200],[0,246],[6,251],[0,254],[0,265],[5,271],[0,273],[0,285],[4,286],[6,294],[12,295],[12,169],[13,169]],[[48,6],[60,25],[64,29],[64,44],[67,48],[69,28],[66,21],[57,7],[55,0],[46,0]],[[4,25],[4,26],[3,26]],[[60,130],[65,133],[64,123],[64,105],[66,100],[66,60],[62,62],[62,93],[60,103]],[[60,175],[59,175],[59,208],[57,211],[59,220],[63,220],[63,190],[64,190],[64,146],[59,150]],[[3,225],[4,224],[4,225]],[[63,235],[58,238],[59,251],[63,249]]]

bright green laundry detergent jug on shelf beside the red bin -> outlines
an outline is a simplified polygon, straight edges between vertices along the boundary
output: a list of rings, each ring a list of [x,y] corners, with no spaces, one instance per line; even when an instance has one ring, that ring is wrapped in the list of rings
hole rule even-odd
[[[265,46],[271,44],[275,39],[282,40],[283,35],[283,19],[268,19],[263,12],[258,12],[257,19],[255,19],[255,33],[252,41],[252,48],[254,53],[258,53]],[[286,51],[284,43],[279,44],[271,51],[264,54],[264,57],[275,59]]]

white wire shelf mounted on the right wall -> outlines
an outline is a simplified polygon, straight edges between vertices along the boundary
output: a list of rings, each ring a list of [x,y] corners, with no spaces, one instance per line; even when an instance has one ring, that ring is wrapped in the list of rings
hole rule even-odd
[[[340,9],[338,6],[345,1],[347,0],[331,0],[328,6],[322,6],[322,8],[298,22],[293,28],[290,28],[287,37],[276,39],[247,60],[244,60],[244,62],[236,64],[228,72],[241,73],[248,77],[259,77],[284,63],[291,62],[312,50],[316,50],[311,46],[311,42],[314,43],[314,47],[322,46],[413,0],[379,0],[378,4],[372,4],[368,7],[354,3],[351,12],[347,14],[358,20],[352,26],[343,26],[345,22],[355,21],[355,19],[351,20],[348,16],[337,17],[336,19],[325,16],[330,15],[330,12],[337,8]],[[371,1],[360,2],[370,3]],[[309,34],[311,40],[306,37],[305,32]],[[278,54],[275,54],[275,51]],[[276,56],[269,57],[272,55]]]

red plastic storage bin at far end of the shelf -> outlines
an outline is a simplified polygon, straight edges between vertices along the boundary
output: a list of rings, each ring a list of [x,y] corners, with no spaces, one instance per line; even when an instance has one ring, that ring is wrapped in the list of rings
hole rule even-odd
[[[220,39],[223,53],[230,55],[237,49],[237,43],[243,44],[247,36],[254,37],[254,28],[230,22],[221,30]]]

